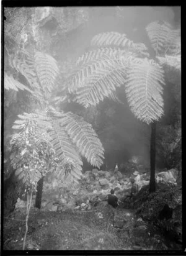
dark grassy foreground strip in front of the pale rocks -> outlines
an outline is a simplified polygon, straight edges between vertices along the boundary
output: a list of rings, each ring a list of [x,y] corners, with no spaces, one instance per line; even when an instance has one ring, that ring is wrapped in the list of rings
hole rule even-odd
[[[124,209],[125,211],[125,209]],[[136,222],[130,215],[122,229],[115,227],[114,214],[123,209],[100,205],[91,211],[54,213],[30,209],[26,250],[182,250],[166,240],[153,226]],[[116,216],[116,215],[115,215]],[[25,210],[4,219],[4,250],[22,250]],[[141,225],[141,226],[140,226]]]

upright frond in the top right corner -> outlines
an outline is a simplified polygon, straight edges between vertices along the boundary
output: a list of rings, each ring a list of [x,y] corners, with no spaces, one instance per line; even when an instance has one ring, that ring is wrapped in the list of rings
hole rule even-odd
[[[177,37],[180,34],[179,29],[172,29],[168,22],[161,24],[157,21],[151,22],[146,27],[146,31],[156,56],[172,53],[172,50],[177,45]]]

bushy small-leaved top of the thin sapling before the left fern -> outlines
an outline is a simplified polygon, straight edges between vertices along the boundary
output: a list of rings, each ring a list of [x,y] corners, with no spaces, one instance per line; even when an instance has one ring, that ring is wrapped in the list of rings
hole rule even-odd
[[[25,116],[29,116],[26,115]],[[22,116],[20,116],[22,117]],[[22,118],[23,119],[23,118]],[[27,191],[37,189],[37,181],[45,175],[54,163],[54,151],[36,130],[35,122],[26,120],[15,121],[14,129],[20,132],[12,135],[11,165],[15,175],[22,179]]]

